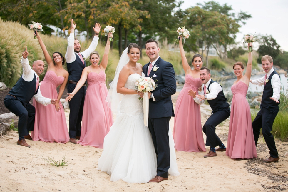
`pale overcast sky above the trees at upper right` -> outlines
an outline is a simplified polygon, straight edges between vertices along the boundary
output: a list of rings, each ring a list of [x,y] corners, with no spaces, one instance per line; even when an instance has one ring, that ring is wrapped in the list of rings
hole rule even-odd
[[[181,9],[185,10],[196,3],[204,4],[202,0],[182,0]],[[231,5],[235,12],[244,11],[251,14],[252,18],[239,29],[236,41],[242,41],[244,34],[272,35],[281,46],[280,49],[288,51],[288,0],[215,0],[221,5]],[[245,4],[246,3],[246,4]]]

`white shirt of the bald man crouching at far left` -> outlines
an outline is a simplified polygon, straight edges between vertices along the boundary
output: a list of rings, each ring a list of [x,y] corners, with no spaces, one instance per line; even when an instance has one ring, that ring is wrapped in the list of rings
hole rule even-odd
[[[34,75],[36,75],[36,79],[37,79],[38,75],[36,74],[36,72],[29,65],[28,57],[26,59],[22,57],[20,62],[21,62],[21,65],[23,67],[23,74],[22,74],[23,80],[27,81],[27,82],[30,82],[30,81],[32,81],[34,79]],[[42,105],[51,104],[51,99],[43,97],[41,95],[40,83],[39,83],[38,92],[37,92],[37,94],[34,95],[34,98],[35,98],[35,100],[38,103],[41,103]]]

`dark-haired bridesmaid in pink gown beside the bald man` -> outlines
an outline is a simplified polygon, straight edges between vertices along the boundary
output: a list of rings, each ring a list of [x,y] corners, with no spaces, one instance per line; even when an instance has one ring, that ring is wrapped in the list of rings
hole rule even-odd
[[[40,140],[49,143],[66,143],[69,141],[69,133],[64,108],[62,104],[59,103],[69,75],[68,72],[63,69],[65,59],[61,53],[55,52],[52,54],[52,60],[38,32],[36,32],[36,37],[48,64],[45,77],[43,81],[41,81],[41,93],[44,97],[57,98],[58,101],[55,106],[43,106],[36,102],[35,99],[33,100],[36,115],[34,131],[31,132],[31,137],[33,138],[33,141]],[[59,85],[61,86],[59,94],[57,94],[56,88]]]

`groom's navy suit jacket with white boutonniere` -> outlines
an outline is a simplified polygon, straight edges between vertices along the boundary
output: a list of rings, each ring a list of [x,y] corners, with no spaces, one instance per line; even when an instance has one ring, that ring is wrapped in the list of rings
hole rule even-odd
[[[145,77],[147,77],[149,64],[150,63],[144,65],[143,67]],[[155,65],[159,67],[157,71],[153,71]],[[151,77],[154,81],[157,79],[157,82],[155,83],[158,87],[152,91],[155,101],[153,101],[153,99],[149,99],[149,117],[174,117],[175,115],[171,95],[175,94],[176,92],[176,79],[173,65],[159,57],[154,66],[152,67],[149,77]]]

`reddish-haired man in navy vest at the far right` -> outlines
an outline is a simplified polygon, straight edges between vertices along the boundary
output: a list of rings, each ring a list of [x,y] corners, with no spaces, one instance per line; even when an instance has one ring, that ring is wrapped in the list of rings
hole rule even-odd
[[[263,159],[263,161],[278,162],[278,151],[271,131],[275,117],[279,111],[281,81],[279,74],[273,69],[272,57],[269,55],[263,56],[261,63],[266,73],[265,76],[255,80],[250,79],[252,84],[264,85],[260,111],[252,122],[254,140],[257,146],[260,129],[262,128],[263,137],[270,150],[270,157]]]

